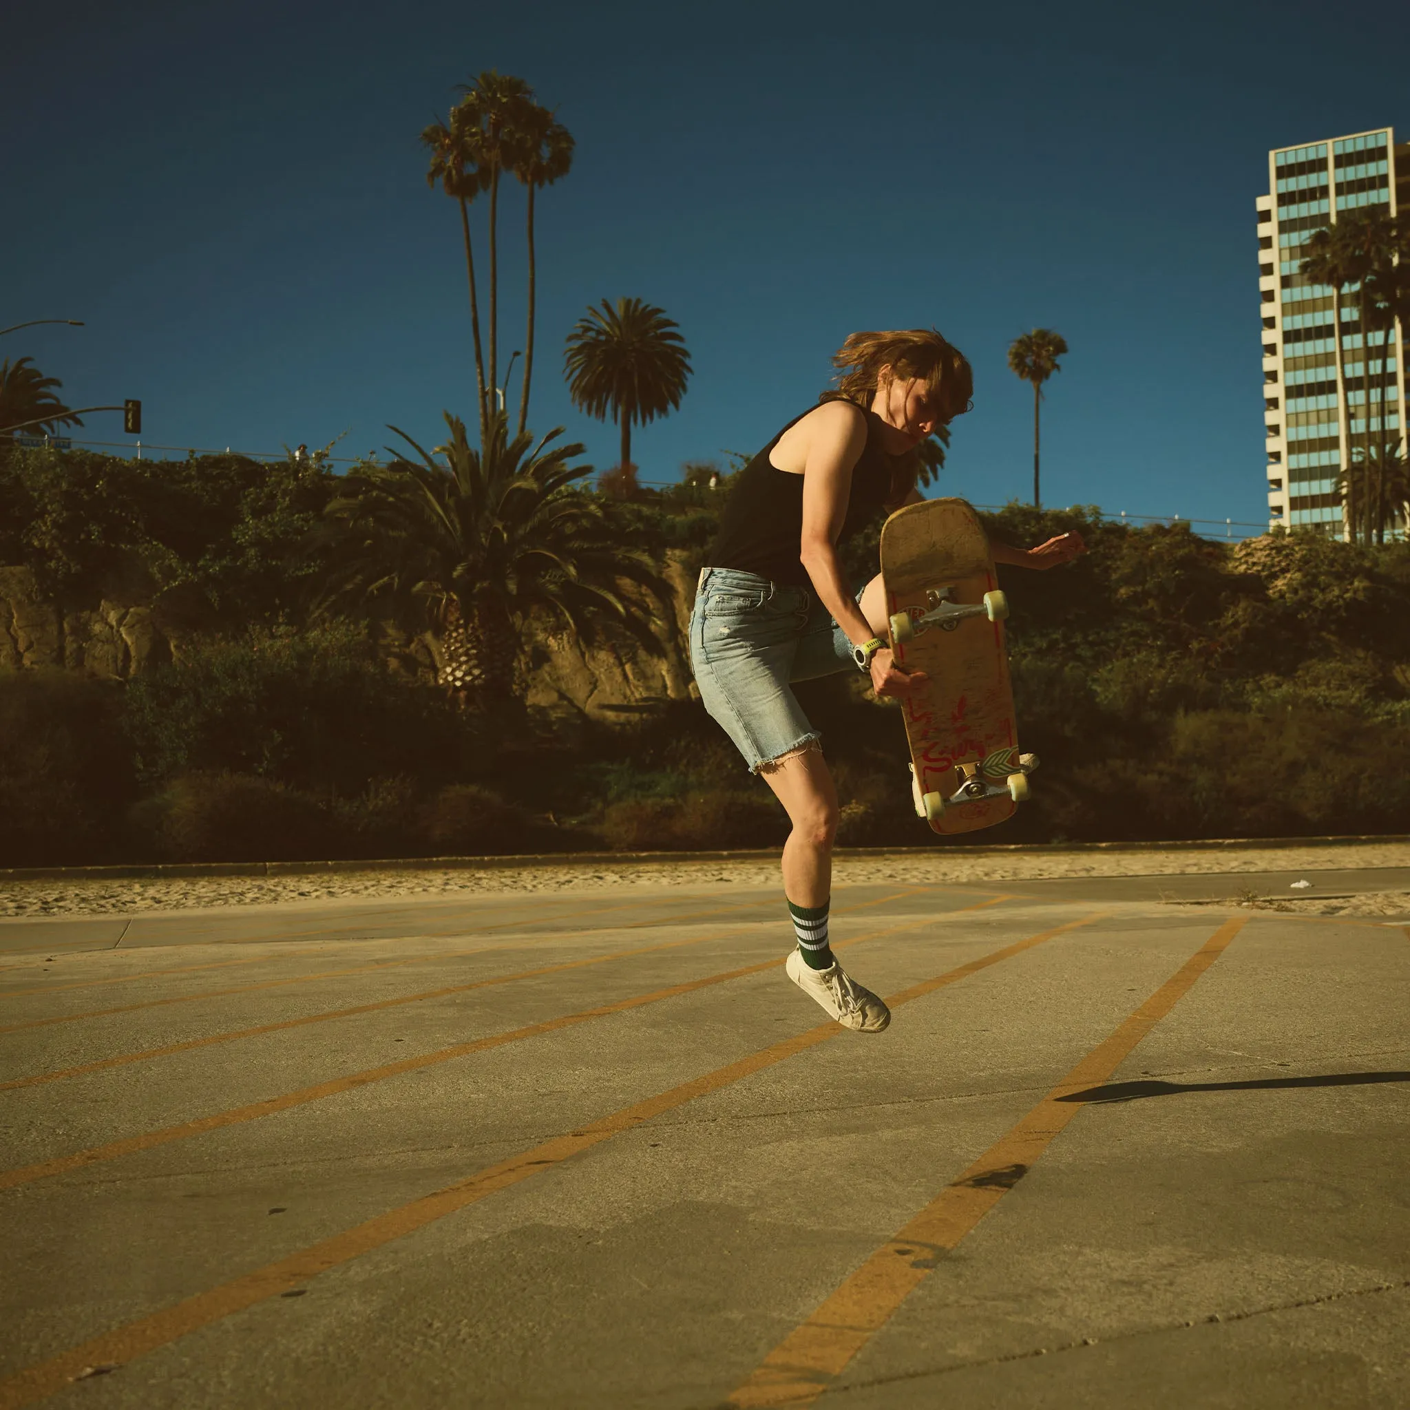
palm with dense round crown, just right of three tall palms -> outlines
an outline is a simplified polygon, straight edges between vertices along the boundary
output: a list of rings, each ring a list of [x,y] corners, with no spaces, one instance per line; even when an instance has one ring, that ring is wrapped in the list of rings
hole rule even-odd
[[[691,360],[678,324],[640,299],[606,299],[588,309],[568,334],[564,374],[572,405],[588,416],[611,415],[622,431],[622,458],[632,462],[632,423],[646,424],[681,405]]]

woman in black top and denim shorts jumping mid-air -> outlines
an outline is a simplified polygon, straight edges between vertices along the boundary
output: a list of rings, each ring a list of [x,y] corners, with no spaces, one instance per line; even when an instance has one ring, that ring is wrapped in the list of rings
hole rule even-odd
[[[880,510],[921,502],[916,447],[970,409],[974,384],[964,355],[926,329],[853,333],[832,361],[838,389],[739,475],[701,570],[691,664],[705,709],[792,823],[783,873],[798,945],[788,977],[843,1026],[874,1034],[890,1010],[828,945],[838,791],[791,682],[850,668],[866,671],[878,695],[905,695],[924,680],[891,658],[880,575],[853,598],[838,544]],[[1028,551],[990,543],[995,563],[1022,568],[1081,551],[1076,533]]]

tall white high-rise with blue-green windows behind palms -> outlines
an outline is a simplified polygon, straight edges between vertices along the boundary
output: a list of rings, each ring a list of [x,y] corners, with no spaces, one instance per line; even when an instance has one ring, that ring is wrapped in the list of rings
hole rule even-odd
[[[1338,384],[1334,290],[1299,269],[1314,231],[1348,212],[1379,204],[1410,219],[1410,142],[1396,147],[1393,130],[1380,128],[1277,148],[1268,154],[1268,190],[1255,204],[1269,522],[1344,537],[1342,474],[1362,454],[1368,396],[1378,443],[1404,434],[1406,330],[1396,326],[1386,348],[1379,341],[1385,334],[1375,333],[1366,368],[1356,293],[1344,290]]]

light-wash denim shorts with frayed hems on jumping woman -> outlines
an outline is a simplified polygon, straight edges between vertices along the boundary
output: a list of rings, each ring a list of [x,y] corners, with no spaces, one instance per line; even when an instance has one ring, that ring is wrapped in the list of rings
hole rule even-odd
[[[705,709],[754,773],[821,739],[790,682],[857,668],[852,642],[811,587],[737,568],[701,570],[691,667]]]

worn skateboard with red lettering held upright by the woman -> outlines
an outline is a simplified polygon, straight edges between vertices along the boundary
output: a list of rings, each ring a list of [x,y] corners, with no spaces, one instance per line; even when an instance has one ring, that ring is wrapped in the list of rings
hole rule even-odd
[[[881,582],[897,666],[929,677],[901,697],[916,814],[939,833],[1004,822],[1038,759],[1018,752],[1008,601],[979,516],[963,499],[898,509],[881,527]]]

